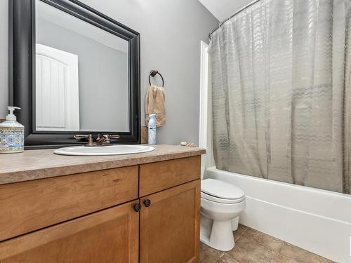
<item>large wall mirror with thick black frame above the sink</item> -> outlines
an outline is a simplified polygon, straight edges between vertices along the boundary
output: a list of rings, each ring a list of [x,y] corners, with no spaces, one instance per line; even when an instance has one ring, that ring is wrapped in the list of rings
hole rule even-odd
[[[10,103],[25,146],[140,142],[139,34],[76,0],[10,0]]]

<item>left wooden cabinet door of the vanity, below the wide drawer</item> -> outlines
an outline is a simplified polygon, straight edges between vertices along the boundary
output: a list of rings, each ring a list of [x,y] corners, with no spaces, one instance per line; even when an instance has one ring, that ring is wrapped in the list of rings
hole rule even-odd
[[[0,243],[0,262],[137,263],[135,201]]]

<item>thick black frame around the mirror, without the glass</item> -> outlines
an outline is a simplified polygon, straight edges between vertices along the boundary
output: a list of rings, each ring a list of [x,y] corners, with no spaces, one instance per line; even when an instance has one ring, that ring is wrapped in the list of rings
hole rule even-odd
[[[25,149],[50,149],[72,144],[76,134],[119,134],[116,143],[140,144],[140,34],[77,0],[40,0],[128,41],[129,132],[48,132],[35,129],[35,0],[9,3],[9,96],[20,107],[18,121],[25,126]],[[103,99],[103,98],[102,98]],[[109,112],[102,112],[109,114]],[[113,116],[111,116],[113,121]]]

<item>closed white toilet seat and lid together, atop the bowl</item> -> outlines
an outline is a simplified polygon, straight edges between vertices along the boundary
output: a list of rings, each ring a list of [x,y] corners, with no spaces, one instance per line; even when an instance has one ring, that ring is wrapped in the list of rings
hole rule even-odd
[[[216,203],[240,203],[245,200],[245,194],[233,184],[206,179],[201,181],[201,198]]]

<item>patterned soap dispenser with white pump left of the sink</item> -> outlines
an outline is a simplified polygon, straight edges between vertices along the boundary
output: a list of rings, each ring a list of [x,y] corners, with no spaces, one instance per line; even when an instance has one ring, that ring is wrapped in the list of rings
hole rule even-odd
[[[25,126],[16,121],[13,114],[18,107],[8,107],[9,114],[6,121],[0,123],[0,154],[14,154],[24,151]]]

